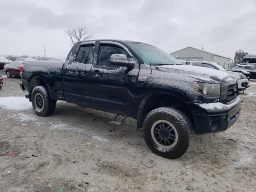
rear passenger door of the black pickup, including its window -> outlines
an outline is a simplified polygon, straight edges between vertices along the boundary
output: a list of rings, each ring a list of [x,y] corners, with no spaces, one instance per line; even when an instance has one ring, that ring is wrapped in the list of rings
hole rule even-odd
[[[67,102],[90,107],[90,71],[94,44],[74,46],[62,70],[62,86]],[[76,52],[76,54],[74,54]]]

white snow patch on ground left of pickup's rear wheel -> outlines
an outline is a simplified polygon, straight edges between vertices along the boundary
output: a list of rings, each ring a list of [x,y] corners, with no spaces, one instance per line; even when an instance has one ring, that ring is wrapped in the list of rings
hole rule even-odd
[[[32,109],[32,104],[25,97],[0,97],[0,107],[25,111]]]

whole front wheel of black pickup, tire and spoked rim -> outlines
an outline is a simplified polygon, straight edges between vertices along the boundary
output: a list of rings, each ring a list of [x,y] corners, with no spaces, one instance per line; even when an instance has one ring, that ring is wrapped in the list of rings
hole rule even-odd
[[[165,128],[162,129],[164,126]],[[146,144],[152,152],[170,159],[184,155],[194,142],[192,122],[186,114],[172,107],[160,107],[149,112],[143,123],[143,131]],[[167,139],[167,135],[172,136]],[[157,140],[156,137],[160,139]]]

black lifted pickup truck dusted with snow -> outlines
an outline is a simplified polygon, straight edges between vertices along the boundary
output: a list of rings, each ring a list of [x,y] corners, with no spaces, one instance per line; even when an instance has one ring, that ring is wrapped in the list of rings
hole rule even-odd
[[[156,154],[178,158],[194,134],[222,132],[240,114],[237,81],[210,68],[181,65],[149,44],[76,43],[66,61],[24,61],[20,87],[39,116],[56,100],[132,117]],[[81,117],[82,118],[82,117]]]

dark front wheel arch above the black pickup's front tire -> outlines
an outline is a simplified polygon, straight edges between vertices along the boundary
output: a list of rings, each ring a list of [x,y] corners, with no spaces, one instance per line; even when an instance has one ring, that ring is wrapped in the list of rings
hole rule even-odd
[[[153,92],[147,94],[140,102],[136,118],[137,128],[139,129],[142,127],[144,119],[150,111],[164,106],[170,106],[181,110],[188,116],[188,118],[193,123],[192,112],[182,98],[179,98],[178,96],[169,93]]]

